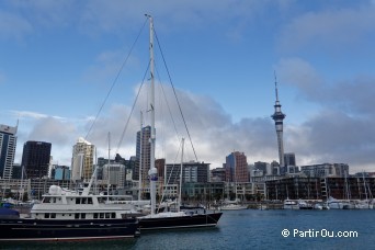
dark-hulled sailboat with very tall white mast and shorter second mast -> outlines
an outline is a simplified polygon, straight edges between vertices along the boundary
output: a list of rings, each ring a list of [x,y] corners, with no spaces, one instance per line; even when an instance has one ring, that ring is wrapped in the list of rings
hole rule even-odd
[[[155,78],[154,78],[154,20],[151,15],[146,15],[150,24],[150,116],[151,116],[151,151],[150,151],[150,170],[148,172],[150,180],[150,197],[151,213],[146,216],[138,217],[140,230],[189,228],[189,227],[214,227],[217,225],[223,213],[204,213],[188,214],[182,211],[156,213],[156,182],[158,180],[158,171],[155,167],[155,147],[156,147],[156,129],[155,129]],[[182,185],[182,162],[180,171],[180,192]],[[179,201],[181,198],[181,194]],[[180,206],[179,206],[180,207]]]

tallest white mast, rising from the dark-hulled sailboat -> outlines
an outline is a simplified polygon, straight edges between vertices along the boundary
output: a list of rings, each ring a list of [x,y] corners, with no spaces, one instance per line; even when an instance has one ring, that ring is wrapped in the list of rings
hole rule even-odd
[[[148,171],[148,175],[150,178],[150,197],[151,197],[151,215],[155,214],[156,208],[156,182],[158,181],[158,171],[155,168],[155,143],[156,143],[156,133],[155,133],[155,79],[154,79],[154,20],[151,15],[146,14],[150,22],[150,77],[151,77],[151,90],[150,90],[150,115],[151,115],[151,152],[150,152],[150,170]]]

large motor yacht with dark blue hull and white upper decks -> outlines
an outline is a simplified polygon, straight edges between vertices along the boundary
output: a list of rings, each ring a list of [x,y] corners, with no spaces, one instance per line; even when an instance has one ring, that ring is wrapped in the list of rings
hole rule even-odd
[[[0,241],[72,241],[133,238],[139,235],[132,204],[107,203],[109,195],[72,192],[52,185],[42,203],[22,218],[13,209],[0,215]]]

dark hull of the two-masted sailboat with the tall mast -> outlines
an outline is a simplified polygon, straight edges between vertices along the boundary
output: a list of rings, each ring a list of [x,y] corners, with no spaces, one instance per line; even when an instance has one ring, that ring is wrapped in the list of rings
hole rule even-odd
[[[215,227],[223,213],[194,214],[181,217],[159,217],[159,218],[139,218],[139,229],[175,229],[175,228],[197,228]]]

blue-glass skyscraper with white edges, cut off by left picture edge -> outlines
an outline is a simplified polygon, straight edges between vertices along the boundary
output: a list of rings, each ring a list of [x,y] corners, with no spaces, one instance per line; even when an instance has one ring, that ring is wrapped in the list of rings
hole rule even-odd
[[[0,124],[0,178],[12,178],[12,167],[15,156],[18,126]]]

